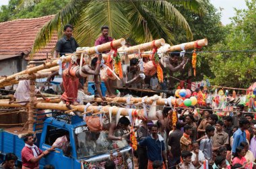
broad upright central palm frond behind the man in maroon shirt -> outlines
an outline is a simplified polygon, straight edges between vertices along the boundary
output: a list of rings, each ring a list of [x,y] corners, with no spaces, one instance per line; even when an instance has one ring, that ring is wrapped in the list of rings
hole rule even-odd
[[[90,46],[100,36],[100,28],[108,25],[109,36],[125,38],[130,23],[124,15],[122,2],[118,1],[92,1],[82,12],[77,25],[77,42],[83,46]]]

